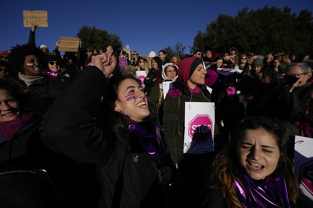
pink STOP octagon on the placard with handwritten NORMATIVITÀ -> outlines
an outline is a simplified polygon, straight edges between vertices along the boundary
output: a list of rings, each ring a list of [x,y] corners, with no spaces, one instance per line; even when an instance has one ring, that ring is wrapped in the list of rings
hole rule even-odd
[[[188,126],[188,135],[196,142],[206,142],[212,137],[212,120],[208,115],[195,116]]]

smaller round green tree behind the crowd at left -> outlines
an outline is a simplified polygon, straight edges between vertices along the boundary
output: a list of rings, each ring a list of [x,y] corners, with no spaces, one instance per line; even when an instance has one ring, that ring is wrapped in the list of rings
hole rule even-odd
[[[122,41],[119,35],[115,33],[109,33],[105,29],[99,29],[93,26],[83,26],[79,29],[77,37],[82,41],[82,47],[89,48],[91,50],[103,49],[106,51],[106,47],[116,44],[118,47],[122,47]]]

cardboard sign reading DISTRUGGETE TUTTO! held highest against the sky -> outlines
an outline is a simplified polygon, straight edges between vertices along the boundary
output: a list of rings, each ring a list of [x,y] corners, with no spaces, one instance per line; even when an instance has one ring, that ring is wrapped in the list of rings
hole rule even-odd
[[[39,27],[48,27],[48,12],[40,10],[23,10],[23,21],[24,27],[32,27],[32,25],[38,25]]]

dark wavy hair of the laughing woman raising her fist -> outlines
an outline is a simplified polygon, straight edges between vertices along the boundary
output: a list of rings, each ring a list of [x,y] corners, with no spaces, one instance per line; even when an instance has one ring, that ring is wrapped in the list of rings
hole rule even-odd
[[[112,77],[108,79],[108,83],[106,85],[105,93],[103,96],[105,97],[105,99],[100,104],[98,116],[100,124],[110,126],[113,131],[123,133],[126,132],[125,130],[130,124],[130,117],[122,112],[114,111],[113,103],[116,100],[119,100],[119,87],[125,79],[133,79],[139,85],[141,85],[141,81],[133,73],[115,73]],[[156,118],[157,114],[155,109],[149,106],[149,110],[149,116],[151,118]]]

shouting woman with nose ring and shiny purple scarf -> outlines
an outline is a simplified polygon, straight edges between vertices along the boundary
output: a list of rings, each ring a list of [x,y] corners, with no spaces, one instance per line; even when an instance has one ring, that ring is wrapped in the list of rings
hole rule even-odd
[[[299,205],[293,162],[285,155],[285,130],[269,119],[240,121],[210,170],[202,207]]]

